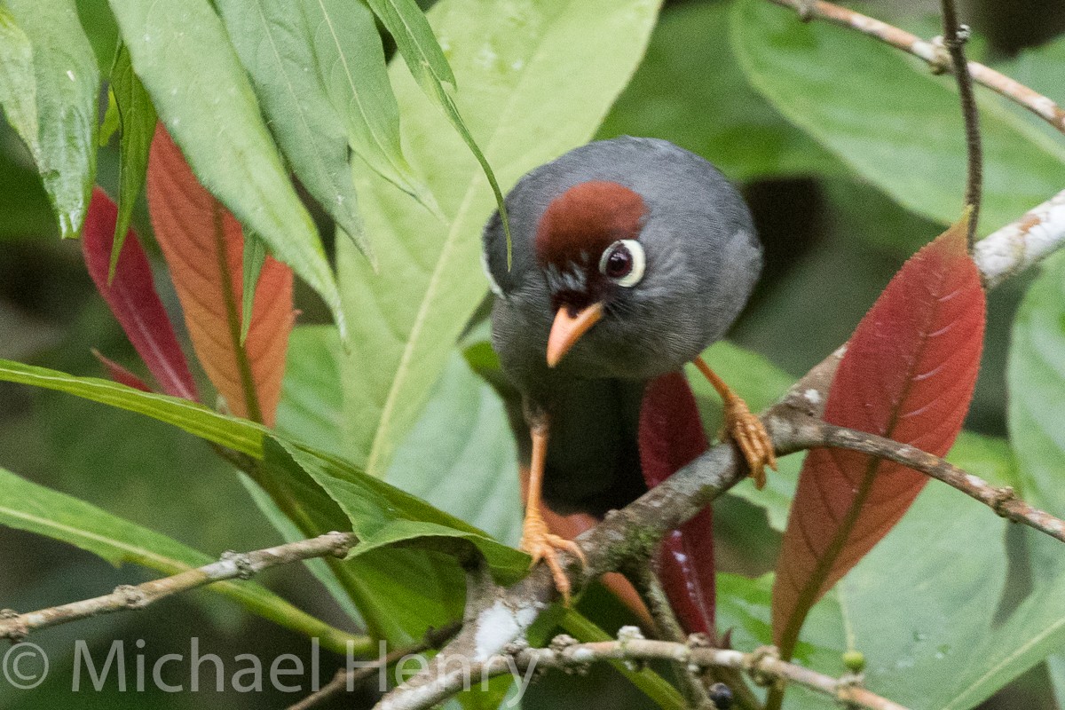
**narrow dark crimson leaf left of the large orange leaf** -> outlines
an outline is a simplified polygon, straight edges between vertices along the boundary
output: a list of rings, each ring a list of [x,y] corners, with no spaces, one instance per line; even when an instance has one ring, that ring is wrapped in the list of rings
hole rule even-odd
[[[94,189],[81,240],[88,274],[163,392],[198,400],[189,363],[155,293],[148,258],[132,229],[122,243],[114,281],[108,285],[117,219],[115,203],[99,187]]]

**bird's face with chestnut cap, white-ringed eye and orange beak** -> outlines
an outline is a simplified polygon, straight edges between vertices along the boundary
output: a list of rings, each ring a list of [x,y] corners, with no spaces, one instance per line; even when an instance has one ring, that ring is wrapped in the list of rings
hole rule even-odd
[[[535,249],[555,312],[548,366],[643,279],[646,254],[639,236],[646,216],[638,194],[605,180],[577,183],[547,205]]]

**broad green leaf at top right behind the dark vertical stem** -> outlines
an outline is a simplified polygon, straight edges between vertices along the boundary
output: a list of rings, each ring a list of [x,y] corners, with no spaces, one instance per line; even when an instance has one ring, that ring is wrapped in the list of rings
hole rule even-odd
[[[962,210],[966,151],[953,79],[858,33],[740,0],[733,48],[785,116],[904,207],[940,222]],[[1061,189],[1065,146],[982,96],[982,232]]]

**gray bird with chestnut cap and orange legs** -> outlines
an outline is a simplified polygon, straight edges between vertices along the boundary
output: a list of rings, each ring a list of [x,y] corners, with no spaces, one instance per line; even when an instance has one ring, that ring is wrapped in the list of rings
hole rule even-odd
[[[576,148],[525,175],[506,208],[510,268],[497,212],[484,258],[492,345],[532,439],[522,548],[547,562],[569,598],[558,552],[580,552],[548,531],[541,505],[602,515],[642,492],[637,425],[653,378],[694,361],[756,482],[764,465],[775,468],[760,422],[699,357],[750,297],[761,248],[728,181],[654,138]]]

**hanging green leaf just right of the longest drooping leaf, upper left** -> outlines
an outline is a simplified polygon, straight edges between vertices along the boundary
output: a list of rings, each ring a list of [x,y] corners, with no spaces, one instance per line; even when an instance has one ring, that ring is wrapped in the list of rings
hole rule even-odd
[[[313,1],[305,0],[302,4]],[[308,71],[308,67],[317,66],[317,55],[304,12],[283,0],[220,0],[217,4],[236,53],[251,76],[271,130],[293,170],[338,226],[372,259],[351,182],[344,122],[329,101],[321,67]],[[383,57],[381,62],[383,66]],[[378,71],[383,75],[383,69]]]

